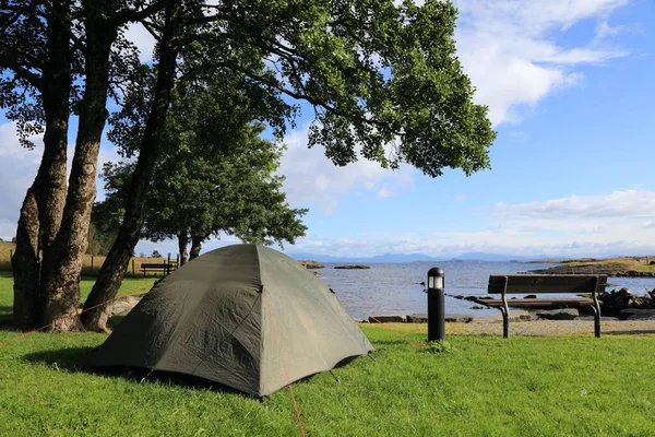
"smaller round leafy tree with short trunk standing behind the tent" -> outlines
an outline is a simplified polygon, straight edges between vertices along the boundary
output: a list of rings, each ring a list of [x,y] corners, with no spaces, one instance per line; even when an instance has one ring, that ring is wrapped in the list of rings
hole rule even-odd
[[[191,119],[186,113],[176,116]],[[300,217],[307,210],[288,205],[282,191],[284,177],[275,175],[283,147],[261,139],[263,130],[262,123],[246,125],[233,135],[233,145],[219,151],[200,143],[166,153],[150,188],[143,237],[153,241],[177,237],[183,264],[189,260],[189,243],[193,259],[211,235],[264,245],[293,244],[305,235]],[[179,132],[168,134],[167,142],[181,141]],[[132,170],[130,163],[106,164],[106,202],[124,198]]]

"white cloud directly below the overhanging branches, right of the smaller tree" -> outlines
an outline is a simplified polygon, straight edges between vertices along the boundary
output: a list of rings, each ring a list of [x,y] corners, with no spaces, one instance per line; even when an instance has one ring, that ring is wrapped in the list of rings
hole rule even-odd
[[[406,166],[392,172],[362,157],[345,167],[335,166],[322,147],[307,147],[308,128],[284,139],[287,151],[279,174],[286,177],[284,190],[291,203],[313,202],[330,214],[346,194],[385,199],[413,187],[412,170]]]

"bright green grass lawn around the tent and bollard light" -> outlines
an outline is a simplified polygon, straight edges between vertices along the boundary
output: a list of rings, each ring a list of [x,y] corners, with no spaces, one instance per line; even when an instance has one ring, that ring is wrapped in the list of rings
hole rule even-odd
[[[2,276],[0,306],[10,303],[11,279]],[[309,436],[652,436],[655,430],[655,336],[449,335],[452,347],[434,352],[422,343],[426,326],[362,329],[376,346],[374,361],[361,357],[334,370],[341,383],[321,374],[294,385]],[[0,331],[0,343],[17,335]],[[81,370],[84,355],[105,338],[37,333],[0,345],[0,435],[300,434],[288,390],[260,401]]]

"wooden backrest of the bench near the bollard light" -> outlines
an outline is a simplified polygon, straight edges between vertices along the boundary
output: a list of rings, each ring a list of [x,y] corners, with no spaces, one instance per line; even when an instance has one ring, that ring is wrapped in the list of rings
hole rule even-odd
[[[606,274],[492,274],[488,293],[502,294],[505,281],[507,294],[602,293],[607,286]]]

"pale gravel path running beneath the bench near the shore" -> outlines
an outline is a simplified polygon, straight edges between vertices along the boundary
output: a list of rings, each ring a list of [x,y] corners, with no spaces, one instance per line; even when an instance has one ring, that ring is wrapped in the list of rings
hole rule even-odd
[[[603,320],[603,335],[655,334],[655,320]],[[502,317],[476,317],[469,323],[446,323],[445,332],[461,334],[502,335]],[[593,320],[533,320],[510,321],[511,335],[570,335],[594,336]]]

